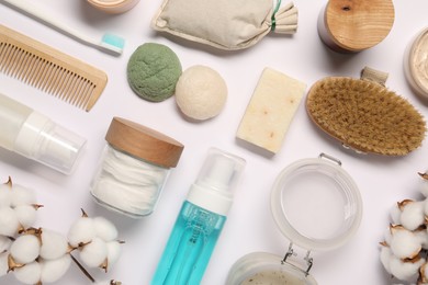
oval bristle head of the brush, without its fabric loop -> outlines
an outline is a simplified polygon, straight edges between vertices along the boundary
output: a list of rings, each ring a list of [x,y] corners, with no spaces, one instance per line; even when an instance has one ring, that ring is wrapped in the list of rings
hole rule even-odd
[[[306,109],[322,129],[363,152],[404,156],[421,145],[426,133],[424,117],[407,100],[367,80],[319,80]]]

